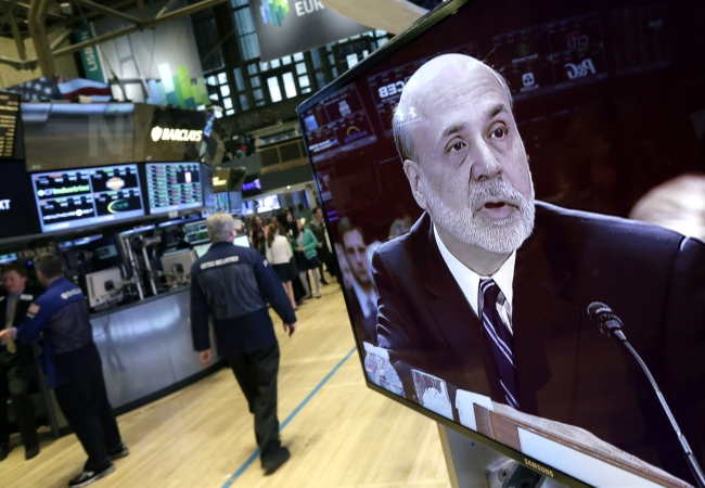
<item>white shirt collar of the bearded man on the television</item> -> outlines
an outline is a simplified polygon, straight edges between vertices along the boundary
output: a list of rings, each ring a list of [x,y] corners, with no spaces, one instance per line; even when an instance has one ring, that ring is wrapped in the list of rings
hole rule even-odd
[[[460,260],[453,256],[450,251],[446,247],[444,242],[440,240],[438,232],[436,230],[436,224],[433,227],[434,237],[436,239],[436,244],[438,245],[438,251],[446,261],[450,273],[458,282],[460,290],[462,290],[467,303],[473,308],[473,311],[479,317],[479,310],[477,305],[477,294],[479,290],[479,280],[491,278],[495,280],[495,283],[499,286],[499,290],[507,298],[507,301],[512,305],[512,298],[514,297],[512,282],[514,281],[514,262],[516,261],[516,251],[514,251],[509,258],[500,266],[495,274],[491,277],[482,277],[477,274],[472,269],[467,268],[465,265],[460,262]]]

